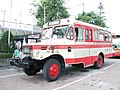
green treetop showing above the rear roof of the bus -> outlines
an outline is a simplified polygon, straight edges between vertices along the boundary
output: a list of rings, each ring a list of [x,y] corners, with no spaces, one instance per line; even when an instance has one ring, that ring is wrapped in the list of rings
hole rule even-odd
[[[97,15],[94,12],[89,12],[89,13],[84,12],[82,14],[79,14],[76,19],[86,23],[98,25],[101,27],[107,27],[105,24],[106,21],[105,16]]]

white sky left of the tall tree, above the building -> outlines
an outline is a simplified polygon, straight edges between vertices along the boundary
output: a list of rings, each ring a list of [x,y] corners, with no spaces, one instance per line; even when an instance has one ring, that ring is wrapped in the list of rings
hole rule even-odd
[[[12,1],[12,5],[11,5]],[[32,8],[33,0],[0,0],[0,20],[4,20],[5,11],[5,21],[11,21],[10,27],[20,28],[22,24],[22,29],[31,28],[33,24],[33,16],[30,13]],[[10,7],[11,7],[11,18],[10,18]],[[17,24],[16,24],[17,23]],[[3,23],[0,23],[3,26]],[[5,23],[5,27],[9,27],[8,23]]]

